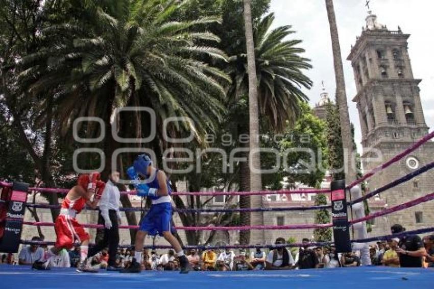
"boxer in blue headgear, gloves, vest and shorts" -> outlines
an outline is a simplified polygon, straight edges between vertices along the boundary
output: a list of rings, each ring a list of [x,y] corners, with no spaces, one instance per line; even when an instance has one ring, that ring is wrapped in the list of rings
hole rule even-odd
[[[137,190],[137,196],[152,200],[151,210],[141,220],[135,239],[135,252],[131,266],[123,273],[140,273],[141,252],[144,238],[147,234],[163,236],[170,243],[179,257],[180,273],[188,273],[190,266],[177,238],[172,234],[172,189],[166,174],[154,167],[149,155],[143,154],[136,158],[133,165],[127,169],[127,175]],[[146,183],[140,182],[145,178]]]

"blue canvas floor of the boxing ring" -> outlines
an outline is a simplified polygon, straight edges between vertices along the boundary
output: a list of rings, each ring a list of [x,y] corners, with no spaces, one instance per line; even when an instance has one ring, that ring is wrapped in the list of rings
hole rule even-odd
[[[0,266],[3,288],[429,288],[434,270],[390,267],[292,271],[190,272],[143,271],[140,274],[77,273],[75,268],[31,271],[28,266]]]

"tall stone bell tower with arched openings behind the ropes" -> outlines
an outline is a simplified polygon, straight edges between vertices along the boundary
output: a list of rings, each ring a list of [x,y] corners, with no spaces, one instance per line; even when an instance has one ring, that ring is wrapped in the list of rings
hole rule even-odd
[[[420,79],[413,76],[407,51],[410,35],[388,30],[369,12],[366,27],[351,47],[348,60],[354,70],[365,172],[391,159],[428,133],[420,99]],[[434,159],[434,142],[369,179],[374,190],[402,177]],[[369,159],[370,158],[370,159]],[[434,191],[434,172],[428,171],[400,186],[383,192],[380,199],[392,207]],[[378,198],[377,198],[378,199]],[[390,233],[401,223],[407,230],[432,225],[434,202],[427,202],[374,220],[373,235]]]

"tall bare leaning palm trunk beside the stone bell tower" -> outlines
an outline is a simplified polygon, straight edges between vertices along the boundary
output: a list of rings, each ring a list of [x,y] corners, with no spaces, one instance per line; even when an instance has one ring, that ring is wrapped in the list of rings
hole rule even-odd
[[[336,17],[334,14],[333,0],[325,0],[327,7],[328,22],[330,25],[330,37],[333,50],[334,74],[336,78],[336,102],[339,105],[339,117],[341,121],[341,137],[344,156],[348,155],[348,170],[345,172],[345,180],[350,184],[356,179],[353,169],[355,164],[353,157],[353,143],[351,137],[350,115],[348,112],[347,93],[345,90],[344,69],[342,66],[341,45],[337,33]]]

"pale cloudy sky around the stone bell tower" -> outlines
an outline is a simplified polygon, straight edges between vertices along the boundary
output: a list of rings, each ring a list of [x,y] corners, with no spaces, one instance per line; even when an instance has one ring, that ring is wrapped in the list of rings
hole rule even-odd
[[[361,34],[361,28],[366,25],[368,15],[366,0],[334,0],[337,29],[341,43],[344,64],[345,84],[347,88],[350,119],[355,126],[355,141],[358,151],[361,151],[361,132],[359,117],[355,103],[356,95],[353,69],[347,61],[351,45],[355,44],[356,36]],[[371,0],[373,14],[377,15],[380,24],[389,30],[401,27],[403,33],[411,34],[408,39],[408,53],[411,59],[413,74],[422,79],[420,84],[422,106],[428,127],[434,127],[434,11],[433,0]],[[333,56],[331,51],[330,30],[327,10],[324,0],[272,0],[270,12],[274,12],[276,20],[274,27],[292,25],[297,31],[290,37],[303,40],[300,44],[305,50],[305,57],[311,59],[314,68],[307,75],[314,82],[311,90],[305,90],[314,105],[320,99],[321,82],[330,97],[334,99],[335,80]]]

